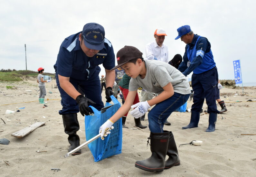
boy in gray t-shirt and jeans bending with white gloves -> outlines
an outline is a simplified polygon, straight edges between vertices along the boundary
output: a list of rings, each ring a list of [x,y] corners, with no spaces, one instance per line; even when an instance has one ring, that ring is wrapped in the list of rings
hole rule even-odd
[[[102,126],[99,133],[104,139],[110,132],[108,130],[114,122],[125,115],[130,108],[131,115],[135,118],[143,116],[147,109],[155,105],[148,113],[150,129],[151,157],[137,161],[135,166],[146,171],[162,172],[180,164],[177,147],[172,132],[164,131],[165,120],[173,111],[182,106],[189,98],[190,88],[186,77],[173,66],[162,61],[144,61],[142,53],[132,46],[125,46],[117,52],[118,65],[111,70],[122,67],[131,77],[129,93],[123,106],[109,118]],[[132,105],[138,87],[157,93],[158,96],[148,101]],[[166,155],[169,156],[165,161]]]

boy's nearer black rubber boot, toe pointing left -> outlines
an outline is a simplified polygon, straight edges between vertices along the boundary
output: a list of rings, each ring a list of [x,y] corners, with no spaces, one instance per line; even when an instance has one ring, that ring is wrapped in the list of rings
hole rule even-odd
[[[137,161],[135,167],[149,172],[162,172],[165,169],[165,157],[167,152],[167,146],[169,142],[169,132],[164,133],[150,133],[148,143],[150,139],[151,157],[146,160]]]

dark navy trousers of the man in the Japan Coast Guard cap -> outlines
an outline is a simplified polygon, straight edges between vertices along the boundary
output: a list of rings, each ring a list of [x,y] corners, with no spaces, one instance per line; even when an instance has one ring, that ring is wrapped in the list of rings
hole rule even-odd
[[[74,78],[69,79],[70,83],[77,89],[78,85],[82,89],[85,94],[85,97],[94,101],[96,104],[91,105],[100,111],[102,107],[104,107],[102,99],[101,99],[101,88],[100,88],[100,78],[99,72],[94,72],[94,74],[87,80],[77,80]],[[56,73],[56,82],[61,94],[61,105],[62,110],[59,110],[59,114],[71,114],[78,113],[79,107],[73,98],[71,98],[60,86],[58,74]],[[89,104],[90,106],[90,104]]]

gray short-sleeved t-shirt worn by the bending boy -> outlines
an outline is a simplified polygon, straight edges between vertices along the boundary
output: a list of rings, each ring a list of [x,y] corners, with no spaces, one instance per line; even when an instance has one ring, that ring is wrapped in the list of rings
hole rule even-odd
[[[129,91],[136,91],[138,87],[142,87],[160,94],[164,91],[163,87],[171,82],[174,92],[184,95],[191,93],[188,79],[175,67],[157,60],[145,60],[145,65],[147,68],[145,78],[141,79],[140,76],[131,78]]]

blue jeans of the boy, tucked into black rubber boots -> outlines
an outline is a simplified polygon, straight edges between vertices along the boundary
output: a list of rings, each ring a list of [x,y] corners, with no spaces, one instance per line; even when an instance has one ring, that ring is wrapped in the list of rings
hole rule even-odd
[[[174,95],[153,107],[148,113],[149,130],[153,133],[163,133],[163,126],[166,119],[173,111],[181,107],[188,100],[190,94],[180,94],[174,92]]]

